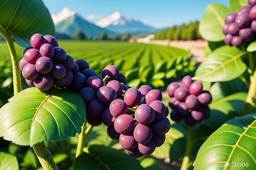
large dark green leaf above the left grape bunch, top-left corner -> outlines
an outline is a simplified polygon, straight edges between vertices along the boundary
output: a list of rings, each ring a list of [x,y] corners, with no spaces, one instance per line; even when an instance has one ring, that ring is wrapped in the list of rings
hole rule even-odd
[[[54,36],[54,24],[42,0],[1,0],[0,16],[0,29],[20,46],[30,46],[34,33]]]

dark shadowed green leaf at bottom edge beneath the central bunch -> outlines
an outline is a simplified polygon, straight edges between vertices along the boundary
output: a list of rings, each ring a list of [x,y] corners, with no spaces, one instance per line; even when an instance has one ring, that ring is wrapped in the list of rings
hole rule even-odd
[[[74,170],[143,170],[139,161],[120,150],[92,145],[88,153],[79,155]]]

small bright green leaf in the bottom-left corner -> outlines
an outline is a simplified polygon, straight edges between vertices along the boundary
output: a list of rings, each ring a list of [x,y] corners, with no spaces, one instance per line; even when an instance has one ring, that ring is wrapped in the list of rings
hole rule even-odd
[[[0,152],[0,170],[19,170],[17,158],[14,155]]]

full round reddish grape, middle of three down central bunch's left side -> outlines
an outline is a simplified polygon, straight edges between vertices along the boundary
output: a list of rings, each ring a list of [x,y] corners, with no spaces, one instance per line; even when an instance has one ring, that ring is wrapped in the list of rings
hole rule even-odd
[[[115,130],[119,133],[128,133],[134,128],[134,120],[131,115],[120,115],[114,122]]]

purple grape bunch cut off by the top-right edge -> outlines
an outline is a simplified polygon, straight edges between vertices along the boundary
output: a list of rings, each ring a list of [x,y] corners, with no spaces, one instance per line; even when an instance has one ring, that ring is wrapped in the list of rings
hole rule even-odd
[[[256,1],[248,0],[248,5],[241,7],[237,13],[229,13],[224,22],[222,33],[225,44],[241,47],[250,42],[256,33]]]

